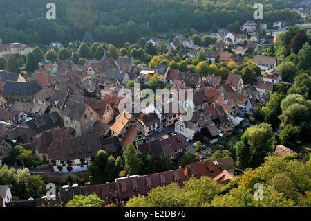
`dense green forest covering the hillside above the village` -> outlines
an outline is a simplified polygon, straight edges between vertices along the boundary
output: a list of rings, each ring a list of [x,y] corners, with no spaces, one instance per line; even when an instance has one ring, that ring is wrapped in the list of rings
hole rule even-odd
[[[49,0],[0,0],[0,36],[4,43],[62,44],[109,42],[121,46],[142,36],[176,31],[202,32],[213,26],[241,25],[253,17],[255,2],[264,5],[263,22],[298,19],[292,0],[54,0],[56,19],[46,19]]]

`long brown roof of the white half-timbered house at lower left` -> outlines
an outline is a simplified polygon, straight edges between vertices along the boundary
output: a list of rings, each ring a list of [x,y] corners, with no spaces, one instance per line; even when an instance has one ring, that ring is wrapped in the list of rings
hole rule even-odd
[[[48,148],[48,159],[69,161],[94,157],[102,150],[100,134],[54,139]]]

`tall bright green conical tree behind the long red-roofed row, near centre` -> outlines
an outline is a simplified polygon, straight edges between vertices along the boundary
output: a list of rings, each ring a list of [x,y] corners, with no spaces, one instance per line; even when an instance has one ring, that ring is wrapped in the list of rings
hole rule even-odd
[[[124,151],[124,169],[130,175],[139,175],[142,171],[143,161],[140,152],[134,145],[128,145]]]

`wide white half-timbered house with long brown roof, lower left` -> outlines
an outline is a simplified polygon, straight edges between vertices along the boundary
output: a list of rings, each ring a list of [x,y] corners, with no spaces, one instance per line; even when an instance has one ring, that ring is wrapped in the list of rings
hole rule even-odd
[[[100,134],[54,139],[48,148],[48,162],[54,172],[86,171],[99,150]]]

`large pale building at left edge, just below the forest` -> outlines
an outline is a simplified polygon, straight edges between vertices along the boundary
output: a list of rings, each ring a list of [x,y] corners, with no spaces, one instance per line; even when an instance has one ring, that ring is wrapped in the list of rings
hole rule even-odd
[[[21,43],[1,44],[0,57],[8,57],[15,53],[27,56],[31,50],[32,48],[27,44]]]

